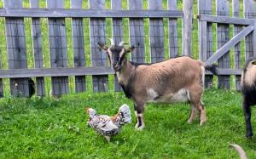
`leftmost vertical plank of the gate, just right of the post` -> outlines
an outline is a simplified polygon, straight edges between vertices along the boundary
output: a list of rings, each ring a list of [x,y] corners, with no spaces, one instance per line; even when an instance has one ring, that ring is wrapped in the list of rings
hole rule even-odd
[[[212,14],[212,0],[199,0],[198,1],[198,12],[199,14]],[[207,61],[207,59],[212,55],[212,23],[210,22],[199,22],[199,32],[200,32],[200,47],[201,53],[199,54],[200,60]],[[205,77],[205,87],[210,88],[212,86],[213,76],[206,75]]]

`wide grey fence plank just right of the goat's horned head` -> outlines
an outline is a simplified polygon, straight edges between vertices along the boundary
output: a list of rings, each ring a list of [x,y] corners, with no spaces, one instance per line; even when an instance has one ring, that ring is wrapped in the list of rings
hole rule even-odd
[[[129,9],[133,11],[142,10],[142,0],[130,0]],[[135,46],[134,52],[131,54],[131,60],[134,62],[145,62],[145,43],[144,43],[144,22],[143,18],[130,18],[130,41]]]

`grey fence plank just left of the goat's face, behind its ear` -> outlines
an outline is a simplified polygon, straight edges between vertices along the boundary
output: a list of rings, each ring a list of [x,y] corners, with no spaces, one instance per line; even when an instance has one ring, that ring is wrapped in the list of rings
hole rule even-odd
[[[90,0],[90,9],[105,9],[105,0]],[[90,59],[92,66],[107,65],[107,54],[97,43],[106,43],[105,18],[90,18]],[[95,92],[108,91],[108,75],[92,76]]]

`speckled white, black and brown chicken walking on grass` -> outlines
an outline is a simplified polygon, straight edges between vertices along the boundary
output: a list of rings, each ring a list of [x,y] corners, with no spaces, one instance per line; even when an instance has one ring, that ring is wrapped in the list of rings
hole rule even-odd
[[[131,122],[131,111],[128,105],[122,105],[115,116],[98,115],[92,108],[86,111],[90,116],[87,124],[97,133],[102,134],[108,142],[111,136],[118,134],[126,123]]]

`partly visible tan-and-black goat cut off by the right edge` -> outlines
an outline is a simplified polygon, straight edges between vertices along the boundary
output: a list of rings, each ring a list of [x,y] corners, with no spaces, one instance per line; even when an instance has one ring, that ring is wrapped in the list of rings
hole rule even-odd
[[[253,136],[251,123],[251,106],[256,105],[256,65],[247,63],[241,74],[241,93],[243,95],[242,108],[246,121],[246,136]]]

